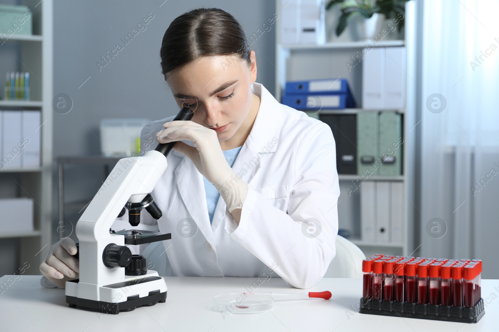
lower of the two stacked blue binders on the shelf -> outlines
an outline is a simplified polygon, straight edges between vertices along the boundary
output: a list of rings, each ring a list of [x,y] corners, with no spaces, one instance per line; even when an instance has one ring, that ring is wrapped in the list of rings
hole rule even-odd
[[[347,108],[347,96],[341,95],[285,95],[282,104],[296,110],[327,110]]]

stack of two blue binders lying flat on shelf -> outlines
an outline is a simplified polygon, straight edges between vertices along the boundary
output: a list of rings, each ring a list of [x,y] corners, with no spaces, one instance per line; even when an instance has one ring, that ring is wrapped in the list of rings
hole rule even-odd
[[[286,82],[281,103],[301,111],[355,107],[346,79]]]

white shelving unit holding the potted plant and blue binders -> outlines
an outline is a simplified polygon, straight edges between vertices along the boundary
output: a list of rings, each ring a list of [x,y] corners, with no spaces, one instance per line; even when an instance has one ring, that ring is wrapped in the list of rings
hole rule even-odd
[[[276,1],[276,10],[280,13],[281,1]],[[412,168],[413,156],[409,154],[413,141],[408,141],[408,138],[414,133],[410,133],[411,128],[416,124],[414,121],[414,109],[408,107],[412,103],[412,95],[414,83],[409,75],[414,68],[414,29],[415,29],[415,12],[409,1],[406,4],[405,13],[405,39],[404,40],[381,40],[373,42],[367,41],[341,41],[341,42],[326,42],[323,45],[316,44],[280,44],[280,29],[281,19],[277,19],[276,25],[276,47],[275,47],[275,98],[280,101],[284,91],[286,81],[300,81],[313,79],[330,79],[330,78],[346,78],[350,85],[353,97],[356,104],[362,105],[362,61],[354,65],[351,62],[351,57],[366,48],[371,47],[394,47],[406,46],[407,51],[407,96],[406,108],[397,110],[364,110],[362,108],[345,109],[345,110],[320,110],[307,111],[309,116],[318,118],[319,114],[357,114],[366,111],[397,111],[403,114],[403,171],[399,176],[370,176],[366,181],[397,181],[404,183],[404,218],[402,221],[403,242],[402,243],[386,243],[364,241],[360,237],[360,195],[357,190],[351,197],[348,196],[346,187],[360,178],[360,175],[340,174],[340,198],[338,203],[338,217],[340,228],[352,229],[353,235],[349,237],[353,243],[359,246],[366,256],[375,252],[392,253],[396,255],[409,255],[416,249],[412,240],[413,226],[413,207],[412,199]],[[280,15],[282,17],[282,15]],[[335,27],[327,27],[326,29],[334,29]],[[347,66],[350,63],[350,68]],[[353,66],[352,66],[353,65]],[[409,135],[411,134],[411,135]],[[340,213],[341,212],[341,213]]]

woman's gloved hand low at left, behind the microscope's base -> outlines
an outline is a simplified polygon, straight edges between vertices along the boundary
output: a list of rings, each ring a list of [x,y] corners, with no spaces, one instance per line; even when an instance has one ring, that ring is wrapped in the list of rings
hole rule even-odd
[[[66,281],[78,278],[79,261],[72,255],[78,250],[69,237],[61,238],[52,244],[47,257],[40,264],[40,272],[52,283],[65,288]]]

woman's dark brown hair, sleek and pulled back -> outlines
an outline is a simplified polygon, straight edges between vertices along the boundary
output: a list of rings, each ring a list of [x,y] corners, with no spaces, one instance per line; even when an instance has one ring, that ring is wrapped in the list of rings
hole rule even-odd
[[[251,64],[250,46],[238,20],[220,8],[198,8],[175,18],[161,44],[163,75],[202,56],[235,55]]]

